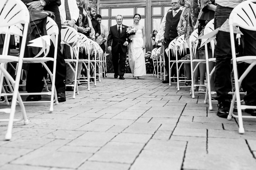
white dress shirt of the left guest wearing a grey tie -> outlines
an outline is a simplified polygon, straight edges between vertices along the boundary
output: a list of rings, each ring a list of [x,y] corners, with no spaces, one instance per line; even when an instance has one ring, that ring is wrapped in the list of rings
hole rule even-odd
[[[74,19],[75,21],[78,20],[79,17],[79,9],[76,5],[76,0],[68,0],[68,7],[71,19]],[[65,10],[65,0],[61,0],[61,5],[59,6],[60,10],[60,19],[62,22],[66,21],[66,10]]]

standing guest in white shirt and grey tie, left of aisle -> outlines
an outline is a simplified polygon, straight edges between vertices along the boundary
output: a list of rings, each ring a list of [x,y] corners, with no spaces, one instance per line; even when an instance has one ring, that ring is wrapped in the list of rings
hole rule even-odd
[[[66,25],[69,27],[74,27],[76,29],[75,23],[78,20],[79,17],[79,9],[76,5],[76,0],[61,0],[61,5],[59,7],[60,9],[60,17],[61,17],[61,24]],[[70,47],[64,44],[64,50],[63,54],[65,56],[65,59],[71,59],[71,51]],[[75,69],[75,63],[70,63],[71,66]],[[65,79],[65,84],[73,84],[74,81],[74,72],[72,71],[71,67],[67,66],[67,75]],[[74,87],[67,86],[66,91],[74,91]]]

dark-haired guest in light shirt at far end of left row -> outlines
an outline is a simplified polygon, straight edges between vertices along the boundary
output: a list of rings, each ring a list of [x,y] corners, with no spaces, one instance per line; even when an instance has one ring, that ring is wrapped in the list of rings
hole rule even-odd
[[[99,46],[101,46],[103,53],[105,53],[105,42],[108,40],[109,35],[108,28],[105,27],[105,25],[101,24],[101,15],[96,14],[94,18],[99,21],[99,24],[101,26],[101,34],[95,39],[95,42],[98,43]]]

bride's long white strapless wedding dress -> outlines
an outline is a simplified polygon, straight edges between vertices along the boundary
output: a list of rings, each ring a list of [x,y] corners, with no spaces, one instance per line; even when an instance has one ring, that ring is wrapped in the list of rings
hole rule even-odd
[[[144,44],[142,37],[142,30],[138,29],[129,44],[129,65],[132,75],[135,77],[146,75],[145,49],[142,49]]]

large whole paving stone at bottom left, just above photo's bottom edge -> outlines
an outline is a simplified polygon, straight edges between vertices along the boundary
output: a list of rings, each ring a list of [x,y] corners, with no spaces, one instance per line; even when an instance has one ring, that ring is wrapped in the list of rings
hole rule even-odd
[[[34,166],[77,168],[91,156],[88,153],[54,152],[45,150],[33,151],[12,161],[13,164]]]

